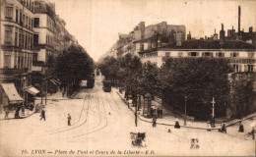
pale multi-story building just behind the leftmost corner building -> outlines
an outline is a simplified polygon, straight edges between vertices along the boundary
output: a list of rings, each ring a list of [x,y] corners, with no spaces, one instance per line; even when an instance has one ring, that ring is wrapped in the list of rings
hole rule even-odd
[[[54,5],[35,0],[33,44],[36,53],[33,55],[33,71],[41,71],[41,67],[54,55],[54,16]]]

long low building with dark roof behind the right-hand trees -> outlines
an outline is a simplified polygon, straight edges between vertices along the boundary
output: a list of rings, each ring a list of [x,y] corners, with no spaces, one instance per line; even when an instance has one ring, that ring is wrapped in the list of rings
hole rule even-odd
[[[226,58],[235,72],[256,72],[256,46],[242,41],[192,40],[183,41],[181,45],[168,45],[139,52],[143,63],[153,62],[160,67],[167,58],[207,57]]]

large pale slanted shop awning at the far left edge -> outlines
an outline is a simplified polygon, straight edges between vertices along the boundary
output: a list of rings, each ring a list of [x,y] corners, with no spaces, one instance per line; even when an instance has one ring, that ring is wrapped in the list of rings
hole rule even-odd
[[[19,95],[14,83],[1,83],[1,85],[9,98],[10,104],[23,102],[23,98]]]

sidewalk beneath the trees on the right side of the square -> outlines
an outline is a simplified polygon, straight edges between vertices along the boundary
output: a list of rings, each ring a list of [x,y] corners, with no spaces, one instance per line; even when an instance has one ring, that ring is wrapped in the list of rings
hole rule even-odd
[[[120,98],[123,100],[123,102],[125,104],[127,104],[127,101],[124,98],[124,92],[120,93],[118,89],[113,88],[114,91],[116,91],[116,93],[120,96]],[[162,118],[159,118],[157,121],[157,124],[159,125],[164,125],[164,126],[174,126],[175,123],[175,116],[173,113],[171,113],[168,109],[166,109],[166,107],[162,106],[161,104],[161,100],[159,98],[155,99],[152,101],[152,105],[155,105],[157,107],[160,107],[162,109]],[[135,112],[135,107],[131,107],[130,109]],[[152,119],[149,118],[145,118],[142,115],[142,111],[138,111],[138,118],[141,121],[144,122],[148,122],[148,123],[152,123]],[[256,113],[250,114],[248,116],[246,116],[245,118],[238,120],[238,119],[234,119],[228,122],[225,122],[226,127],[230,127],[240,121],[244,121],[247,119],[250,119],[252,117],[255,117]],[[208,124],[206,122],[193,122],[193,121],[186,121],[186,126],[184,126],[184,121],[183,118],[181,116],[177,116],[177,118],[179,119],[179,125],[180,127],[183,128],[191,128],[191,129],[200,129],[200,130],[209,130],[208,128]],[[219,130],[221,129],[221,124],[216,123],[216,128],[210,128],[210,130]]]

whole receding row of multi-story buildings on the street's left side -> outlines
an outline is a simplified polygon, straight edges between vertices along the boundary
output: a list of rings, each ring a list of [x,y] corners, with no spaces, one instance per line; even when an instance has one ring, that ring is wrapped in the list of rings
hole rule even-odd
[[[25,105],[28,92],[36,90],[32,82],[44,84],[42,79],[32,80],[33,74],[45,78],[50,74],[50,58],[78,44],[65,25],[55,13],[55,4],[47,0],[1,1],[0,112],[12,104]]]

